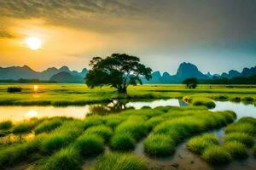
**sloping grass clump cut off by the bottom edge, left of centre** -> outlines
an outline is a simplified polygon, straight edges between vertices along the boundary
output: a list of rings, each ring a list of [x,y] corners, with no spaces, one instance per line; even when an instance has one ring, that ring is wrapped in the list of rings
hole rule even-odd
[[[68,147],[56,152],[41,162],[38,169],[42,170],[81,170],[81,158],[77,150]]]

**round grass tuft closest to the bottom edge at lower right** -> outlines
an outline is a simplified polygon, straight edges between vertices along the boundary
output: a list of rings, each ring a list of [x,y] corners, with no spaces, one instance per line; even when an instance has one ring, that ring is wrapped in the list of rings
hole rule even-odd
[[[214,145],[203,152],[203,159],[213,165],[223,165],[231,161],[230,153],[224,148]]]

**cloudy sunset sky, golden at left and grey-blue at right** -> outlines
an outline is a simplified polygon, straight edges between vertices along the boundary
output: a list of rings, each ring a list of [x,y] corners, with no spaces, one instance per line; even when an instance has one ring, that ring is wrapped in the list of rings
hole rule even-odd
[[[255,66],[256,1],[0,0],[2,67],[80,71],[113,53],[172,74],[181,62],[212,73]]]

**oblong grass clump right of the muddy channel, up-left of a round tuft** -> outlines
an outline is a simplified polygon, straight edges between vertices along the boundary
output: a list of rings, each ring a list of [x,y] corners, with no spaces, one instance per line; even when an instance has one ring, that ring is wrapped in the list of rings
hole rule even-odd
[[[187,143],[187,149],[194,152],[197,155],[201,155],[205,150],[216,144],[218,144],[217,137],[214,134],[207,133],[189,139]]]

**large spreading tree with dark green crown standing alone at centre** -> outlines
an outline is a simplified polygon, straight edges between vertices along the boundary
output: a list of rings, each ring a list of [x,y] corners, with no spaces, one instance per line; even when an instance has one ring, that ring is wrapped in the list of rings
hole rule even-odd
[[[88,87],[109,85],[117,88],[119,94],[127,94],[129,85],[143,84],[141,77],[151,78],[151,68],[140,63],[136,56],[112,54],[105,59],[94,57],[90,60],[92,69],[85,77]]]

